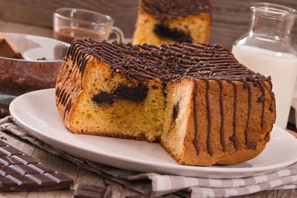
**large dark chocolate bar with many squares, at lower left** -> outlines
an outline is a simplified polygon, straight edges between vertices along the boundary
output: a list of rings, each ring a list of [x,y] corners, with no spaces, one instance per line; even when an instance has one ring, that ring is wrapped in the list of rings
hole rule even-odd
[[[0,192],[65,189],[73,183],[66,175],[0,141]]]

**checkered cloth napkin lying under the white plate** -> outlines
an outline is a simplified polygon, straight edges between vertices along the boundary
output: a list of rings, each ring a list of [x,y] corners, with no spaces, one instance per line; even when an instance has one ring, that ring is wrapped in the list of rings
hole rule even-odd
[[[158,197],[176,193],[190,198],[226,198],[265,190],[297,189],[297,163],[269,174],[242,179],[205,179],[157,173],[138,173],[63,153],[32,137],[30,132],[16,124],[12,116],[0,120],[0,131],[13,133],[51,154],[72,161],[102,177],[142,193],[144,194],[143,197]]]

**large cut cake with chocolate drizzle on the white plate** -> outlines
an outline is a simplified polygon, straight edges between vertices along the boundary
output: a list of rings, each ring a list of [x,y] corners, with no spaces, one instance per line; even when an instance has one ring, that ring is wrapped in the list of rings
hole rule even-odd
[[[74,40],[56,102],[76,134],[159,142],[179,164],[233,164],[270,139],[269,78],[221,45]]]

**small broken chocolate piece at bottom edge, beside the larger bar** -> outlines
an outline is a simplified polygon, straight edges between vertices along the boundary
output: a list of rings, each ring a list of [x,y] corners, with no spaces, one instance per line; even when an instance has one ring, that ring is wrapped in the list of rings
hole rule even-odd
[[[103,188],[96,185],[79,184],[73,198],[111,198],[112,191],[109,187]]]

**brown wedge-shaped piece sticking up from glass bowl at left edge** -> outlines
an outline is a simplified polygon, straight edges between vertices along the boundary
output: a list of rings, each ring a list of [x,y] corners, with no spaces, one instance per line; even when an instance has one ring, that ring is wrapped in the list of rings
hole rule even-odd
[[[25,59],[10,39],[0,32],[0,57]]]

